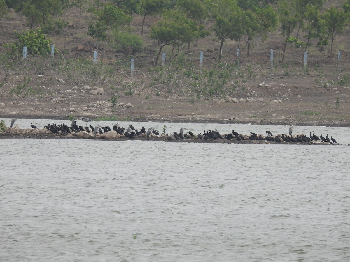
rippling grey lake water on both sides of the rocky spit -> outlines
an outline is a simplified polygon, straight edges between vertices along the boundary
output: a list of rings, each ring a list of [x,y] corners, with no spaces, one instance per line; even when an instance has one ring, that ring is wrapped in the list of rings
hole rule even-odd
[[[25,121],[30,125],[16,124],[24,128]],[[183,125],[194,132],[288,131],[165,124],[169,132]],[[348,144],[348,128],[296,127],[304,130]],[[0,145],[1,261],[350,261],[348,146],[80,139]]]

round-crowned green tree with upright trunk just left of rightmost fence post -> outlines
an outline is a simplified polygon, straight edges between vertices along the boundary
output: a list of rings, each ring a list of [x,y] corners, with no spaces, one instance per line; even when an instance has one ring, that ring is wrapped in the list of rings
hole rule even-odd
[[[327,8],[321,15],[324,20],[325,32],[327,34],[326,41],[330,37],[331,48],[330,53],[333,52],[333,41],[337,33],[341,33],[345,27],[346,14],[343,10],[338,10],[335,7]]]

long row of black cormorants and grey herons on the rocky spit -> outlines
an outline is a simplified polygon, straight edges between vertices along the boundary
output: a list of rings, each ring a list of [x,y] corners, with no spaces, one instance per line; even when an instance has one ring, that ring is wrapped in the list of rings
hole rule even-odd
[[[17,120],[17,118],[13,118],[11,121],[11,127],[13,127],[14,122]],[[56,125],[55,123],[45,125],[44,128],[50,130],[52,133],[71,133],[71,132],[84,132],[86,131],[87,133],[93,133],[93,134],[103,134],[107,132],[111,132],[112,129],[109,126],[86,126],[88,122],[91,122],[91,119],[86,118],[86,117],[80,117],[80,120],[85,122],[85,127],[83,126],[78,126],[77,125],[77,119],[74,119],[72,121],[71,126],[67,126],[64,123],[61,125]],[[33,129],[36,129],[37,127],[31,123],[30,125]],[[189,131],[187,133],[184,133],[184,127],[182,127],[178,132],[173,132],[170,135],[166,134],[166,137],[168,140],[179,140],[179,139],[189,139],[189,138],[197,138],[197,139],[204,139],[204,140],[218,140],[218,139],[226,139],[226,140],[266,140],[269,142],[277,142],[280,143],[282,141],[285,142],[295,142],[295,143],[313,143],[311,141],[317,142],[317,141],[322,141],[322,142],[328,142],[330,144],[337,143],[337,141],[331,136],[330,138],[328,137],[328,134],[326,137],[323,137],[322,134],[320,137],[315,135],[315,131],[310,132],[310,136],[307,137],[304,134],[294,134],[292,135],[292,132],[294,130],[294,125],[290,126],[289,128],[289,136],[287,134],[282,134],[282,135],[272,135],[272,132],[267,130],[266,131],[266,136],[263,136],[261,134],[257,135],[253,132],[250,132],[250,135],[242,135],[237,132],[235,132],[232,129],[232,133],[224,134],[221,135],[217,129],[214,130],[209,130],[205,131],[199,134],[194,134],[193,132]],[[116,131],[120,135],[124,135],[127,138],[133,138],[137,136],[141,136],[143,133],[146,133],[146,137],[149,138],[151,134],[154,134],[155,136],[160,136],[159,131],[157,131],[154,128],[149,128],[146,131],[146,128],[142,126],[141,131],[138,131],[137,129],[134,128],[134,126],[129,125],[128,128],[121,127],[119,124],[115,124],[113,126],[113,131]]]

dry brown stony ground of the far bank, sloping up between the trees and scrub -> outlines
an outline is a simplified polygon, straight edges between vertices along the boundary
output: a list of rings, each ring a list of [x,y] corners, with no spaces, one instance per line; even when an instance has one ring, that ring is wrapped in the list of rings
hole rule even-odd
[[[77,10],[70,10],[66,15],[71,22],[78,24]],[[88,21],[89,14],[84,13],[84,21]],[[118,61],[126,60],[124,54],[113,52],[110,48],[106,58],[101,59],[100,66],[112,65],[116,67],[114,76],[120,80],[114,82],[113,87],[108,79],[99,81],[96,85],[103,88],[98,94],[91,94],[89,79],[79,84],[65,73],[50,71],[48,67],[52,61],[47,62],[44,76],[38,77],[40,70],[34,68],[34,58],[28,58],[23,64],[28,64],[28,70],[13,72],[8,75],[6,84],[0,89],[0,118],[49,118],[65,119],[70,115],[88,116],[91,118],[117,116],[121,120],[130,121],[170,121],[170,122],[205,122],[205,123],[252,123],[252,124],[295,124],[295,125],[329,125],[349,126],[350,121],[350,91],[348,78],[349,59],[349,29],[338,35],[335,41],[335,50],[319,53],[316,47],[308,49],[308,72],[303,71],[303,50],[295,49],[290,45],[283,65],[278,63],[282,49],[283,38],[278,31],[268,35],[262,41],[254,42],[254,48],[249,57],[245,50],[241,51],[239,58],[240,70],[248,77],[239,83],[237,92],[231,97],[246,102],[223,102],[213,97],[198,99],[188,95],[156,94],[149,83],[154,73],[154,54],[158,51],[155,42],[149,39],[149,29],[154,18],[148,18],[144,29],[145,53],[135,57],[135,76],[130,78],[128,67],[118,67]],[[1,20],[0,42],[13,42],[14,30],[21,30],[20,17],[10,12]],[[141,29],[142,18],[135,16],[133,27],[135,32]],[[24,24],[23,28],[26,27]],[[69,28],[64,57],[69,63],[70,59],[78,57],[93,58],[94,40],[86,35],[87,23],[83,28]],[[63,53],[64,34],[52,36],[56,50]],[[92,51],[74,51],[77,45],[91,46]],[[227,41],[223,48],[223,59],[217,61],[219,47],[214,35],[191,45],[186,50],[186,60],[198,64],[198,56],[204,51],[204,68],[211,68],[216,64],[235,63],[237,61],[237,42]],[[274,67],[270,74],[270,50],[274,50]],[[338,70],[337,51],[341,50],[341,64]],[[4,50],[2,49],[1,52]],[[170,48],[164,50],[171,53]],[[64,59],[63,59],[64,60]],[[170,67],[168,62],[166,67]],[[23,66],[25,68],[25,66]],[[39,68],[39,67],[38,67]],[[40,69],[40,68],[39,68]],[[195,70],[199,71],[199,67]],[[5,78],[6,63],[2,63],[0,80]],[[28,87],[41,90],[40,95],[8,95],[9,89],[23,85],[23,77],[30,78]],[[62,79],[60,82],[59,80]],[[237,79],[239,80],[239,79]],[[261,86],[260,83],[264,82]],[[132,85],[125,85],[132,83]],[[226,86],[232,85],[228,82]],[[267,86],[266,86],[267,85]],[[92,89],[93,85],[90,85]],[[116,89],[118,93],[116,93]],[[131,89],[128,89],[131,88]],[[127,91],[133,91],[131,96]],[[130,93],[129,93],[130,94]],[[114,107],[111,102],[112,95],[117,95],[117,103],[131,103],[133,107]],[[223,97],[225,100],[225,97]],[[275,102],[275,101],[279,102]],[[102,103],[100,103],[102,101]],[[250,102],[247,102],[250,101]]]

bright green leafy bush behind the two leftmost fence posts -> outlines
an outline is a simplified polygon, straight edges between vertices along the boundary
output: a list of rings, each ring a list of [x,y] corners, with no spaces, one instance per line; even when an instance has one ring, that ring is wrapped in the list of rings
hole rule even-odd
[[[10,51],[13,55],[19,55],[23,51],[23,47],[27,46],[28,54],[49,54],[50,53],[50,42],[51,39],[47,39],[45,34],[41,33],[41,29],[35,30],[28,29],[19,33],[15,31],[18,42],[11,44],[3,44],[5,47],[12,49]]]

